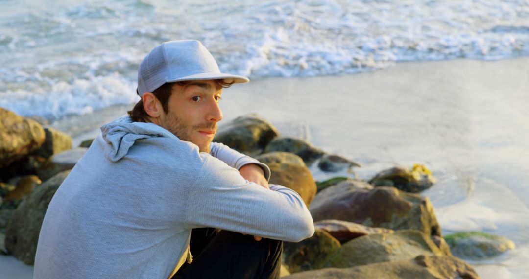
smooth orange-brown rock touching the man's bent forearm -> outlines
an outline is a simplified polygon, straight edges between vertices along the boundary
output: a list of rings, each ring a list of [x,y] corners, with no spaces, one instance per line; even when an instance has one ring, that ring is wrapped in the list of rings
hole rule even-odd
[[[308,205],[316,196],[316,182],[312,178],[311,171],[306,166],[294,164],[269,164],[272,172],[270,183],[283,185],[296,191]]]

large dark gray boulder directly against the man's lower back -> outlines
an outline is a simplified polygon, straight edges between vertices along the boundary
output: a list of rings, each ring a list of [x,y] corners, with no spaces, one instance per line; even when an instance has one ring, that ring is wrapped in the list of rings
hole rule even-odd
[[[5,247],[17,259],[33,265],[40,227],[51,198],[70,171],[63,171],[26,196],[7,222]]]

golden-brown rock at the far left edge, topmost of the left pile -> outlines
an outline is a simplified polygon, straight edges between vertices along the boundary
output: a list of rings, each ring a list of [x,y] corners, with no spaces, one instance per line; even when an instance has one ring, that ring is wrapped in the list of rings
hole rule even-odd
[[[0,107],[0,168],[37,150],[44,143],[44,129]]]

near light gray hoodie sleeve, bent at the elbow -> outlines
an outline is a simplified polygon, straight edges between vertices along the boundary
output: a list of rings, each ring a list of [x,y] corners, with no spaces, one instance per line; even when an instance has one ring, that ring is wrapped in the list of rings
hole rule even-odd
[[[187,223],[298,242],[314,234],[314,223],[299,195],[281,185],[270,189],[245,180],[237,170],[207,156],[191,187]]]

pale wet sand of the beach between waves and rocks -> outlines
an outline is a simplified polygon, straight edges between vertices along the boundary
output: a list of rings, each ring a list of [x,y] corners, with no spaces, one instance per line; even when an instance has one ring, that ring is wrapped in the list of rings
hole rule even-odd
[[[437,183],[422,194],[443,235],[477,230],[512,239],[516,249],[468,261],[481,278],[529,276],[529,58],[397,63],[347,76],[265,78],[224,90],[227,123],[257,113],[294,136],[362,165],[359,179],[395,165],[425,164]],[[110,107],[51,123],[74,146],[126,113]],[[82,129],[79,127],[83,127]],[[339,174],[311,168],[315,180]],[[10,278],[31,267],[0,257]]]

